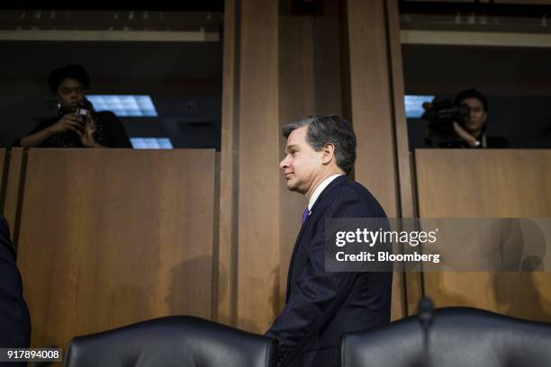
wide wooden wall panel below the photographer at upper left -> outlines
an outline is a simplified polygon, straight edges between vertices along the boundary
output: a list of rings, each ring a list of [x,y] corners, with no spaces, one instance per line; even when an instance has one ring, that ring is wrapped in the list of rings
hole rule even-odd
[[[32,345],[211,318],[214,151],[31,149],[18,264]]]

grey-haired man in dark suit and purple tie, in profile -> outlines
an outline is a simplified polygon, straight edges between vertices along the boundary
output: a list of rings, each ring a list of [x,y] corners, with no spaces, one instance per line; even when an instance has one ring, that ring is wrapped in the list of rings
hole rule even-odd
[[[361,184],[348,178],[356,136],[337,116],[308,116],[283,130],[280,163],[287,187],[309,201],[287,275],[285,309],[266,332],[281,366],[340,366],[340,339],[390,321],[392,273],[325,270],[325,219],[386,218]]]

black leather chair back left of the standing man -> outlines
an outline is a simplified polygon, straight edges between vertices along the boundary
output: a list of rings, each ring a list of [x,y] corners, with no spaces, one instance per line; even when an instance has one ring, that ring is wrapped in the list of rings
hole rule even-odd
[[[203,318],[140,322],[68,345],[66,367],[268,367],[272,340]]]

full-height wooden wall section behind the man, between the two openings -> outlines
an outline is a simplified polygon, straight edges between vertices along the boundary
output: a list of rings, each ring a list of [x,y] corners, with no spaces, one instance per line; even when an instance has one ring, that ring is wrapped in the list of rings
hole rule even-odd
[[[267,0],[226,1],[217,309],[222,322],[264,332],[284,305],[289,257],[306,205],[287,191],[277,167],[285,123],[307,114],[344,115],[343,100],[352,95],[356,178],[389,216],[399,214],[384,2],[350,3],[352,25],[334,0],[324,1],[323,14],[316,16],[279,13],[277,2]],[[393,12],[397,19],[397,6]],[[343,27],[349,38],[341,37]],[[348,43],[349,75],[342,73]],[[399,65],[400,55],[393,61]],[[394,293],[393,318],[400,318],[400,276]]]

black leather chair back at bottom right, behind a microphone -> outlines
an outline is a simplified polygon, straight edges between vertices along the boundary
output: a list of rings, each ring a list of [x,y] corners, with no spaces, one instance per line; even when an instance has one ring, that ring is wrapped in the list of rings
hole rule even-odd
[[[445,308],[434,310],[427,330],[413,316],[345,336],[342,367],[551,366],[551,324]]]

